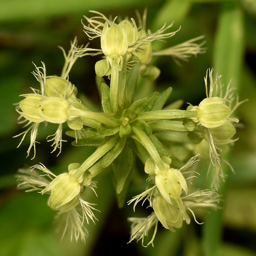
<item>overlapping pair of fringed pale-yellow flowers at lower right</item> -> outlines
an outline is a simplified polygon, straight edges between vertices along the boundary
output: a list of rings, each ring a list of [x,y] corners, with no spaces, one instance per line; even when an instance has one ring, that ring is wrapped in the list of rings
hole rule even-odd
[[[189,191],[187,180],[195,177],[189,176],[184,178],[184,175],[193,173],[195,171],[186,171],[189,167],[196,163],[197,156],[192,157],[183,167],[180,169],[168,168],[157,172],[157,174],[149,174],[149,180],[153,180],[154,184],[148,185],[145,192],[138,196],[134,196],[128,204],[134,203],[133,210],[135,211],[136,205],[143,200],[142,205],[147,200],[149,207],[153,208],[153,212],[147,218],[129,218],[132,222],[131,228],[131,240],[136,239],[139,241],[142,239],[142,245],[144,246],[144,237],[148,235],[148,231],[155,225],[155,232],[148,242],[153,245],[153,241],[156,235],[158,221],[164,226],[164,228],[171,231],[175,231],[175,228],[181,228],[183,221],[187,224],[190,223],[189,213],[192,214],[194,220],[196,216],[193,212],[196,208],[215,208],[217,209],[218,194],[212,190],[195,190]],[[151,162],[152,159],[147,161]],[[148,168],[149,164],[145,165]],[[156,170],[155,170],[156,171]],[[147,170],[145,169],[145,172]]]

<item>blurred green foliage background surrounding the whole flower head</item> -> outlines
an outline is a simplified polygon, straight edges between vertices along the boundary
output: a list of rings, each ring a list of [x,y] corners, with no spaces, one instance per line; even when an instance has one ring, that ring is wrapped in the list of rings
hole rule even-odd
[[[229,173],[227,182],[221,186],[224,202],[222,210],[210,212],[203,225],[184,225],[176,233],[159,225],[154,247],[144,248],[140,242],[129,241],[129,223],[126,218],[134,216],[132,207],[118,209],[111,176],[100,175],[97,179],[96,198],[99,219],[90,224],[86,245],[80,241],[70,242],[55,233],[55,212],[46,205],[47,196],[36,192],[16,190],[18,168],[39,162],[52,172],[65,171],[71,162],[82,163],[94,148],[75,148],[72,139],[64,135],[63,152],[56,157],[45,137],[53,134],[56,126],[43,125],[39,130],[36,158],[26,158],[29,135],[20,148],[20,137],[12,138],[22,131],[17,124],[18,114],[13,103],[19,95],[30,93],[29,87],[39,84],[31,74],[32,61],[41,65],[44,61],[47,75],[60,75],[64,58],[57,47],[67,51],[75,36],[78,44],[86,44],[81,19],[90,16],[89,10],[104,13],[107,17],[120,15],[133,17],[148,8],[147,24],[151,31],[174,20],[172,31],[180,31],[167,43],[154,42],[154,49],[179,44],[196,36],[205,35],[207,52],[189,62],[177,66],[169,57],[157,58],[161,69],[156,90],[173,87],[170,101],[183,99],[193,105],[205,96],[204,76],[207,68],[214,68],[222,75],[225,85],[232,79],[242,104],[236,115],[241,125],[237,129],[235,147],[229,162],[236,174]],[[98,48],[92,42],[90,47]],[[252,256],[256,255],[256,1],[213,0],[0,0],[0,255],[1,256],[82,256],[82,255],[147,255],[147,256]],[[88,102],[96,105],[100,99],[94,82],[94,64],[97,57],[77,60],[69,74],[79,92]],[[215,73],[215,74],[216,74]],[[150,88],[148,89],[150,90]],[[83,97],[83,96],[81,96]],[[206,184],[207,185],[207,184]],[[209,185],[209,184],[208,184]],[[127,201],[141,189],[134,186]]]

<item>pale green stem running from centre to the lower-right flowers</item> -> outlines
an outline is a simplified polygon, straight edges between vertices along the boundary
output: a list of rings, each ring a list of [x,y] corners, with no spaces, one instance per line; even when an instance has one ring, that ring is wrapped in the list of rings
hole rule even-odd
[[[142,131],[140,128],[132,125],[132,131],[135,133],[135,135],[140,139],[140,143],[143,145],[144,148],[148,151],[148,154],[152,157],[155,164],[159,168],[159,170],[164,170],[165,166],[164,163],[159,156],[156,147],[152,143],[152,141],[149,139],[148,135]]]

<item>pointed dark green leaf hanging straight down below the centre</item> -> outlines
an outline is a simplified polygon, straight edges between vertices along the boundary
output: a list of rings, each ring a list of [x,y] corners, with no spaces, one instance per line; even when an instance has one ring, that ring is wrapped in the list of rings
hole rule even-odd
[[[116,179],[117,194],[120,194],[124,188],[124,183],[132,168],[132,160],[132,149],[125,146],[122,152],[112,162],[113,172]]]

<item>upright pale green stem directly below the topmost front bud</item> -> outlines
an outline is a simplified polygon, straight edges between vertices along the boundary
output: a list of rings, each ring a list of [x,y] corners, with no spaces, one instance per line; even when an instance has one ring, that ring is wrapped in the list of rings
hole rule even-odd
[[[109,56],[111,58],[111,79],[110,79],[110,106],[113,112],[118,110],[118,82],[119,82],[119,56]]]

